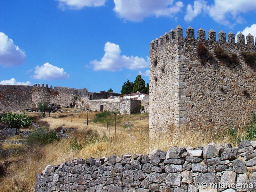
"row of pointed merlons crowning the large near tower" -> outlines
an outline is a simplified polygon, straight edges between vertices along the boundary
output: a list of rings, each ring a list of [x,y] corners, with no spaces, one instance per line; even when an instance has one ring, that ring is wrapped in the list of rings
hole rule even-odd
[[[186,29],[186,38],[195,39],[195,29],[193,29],[192,27],[188,27]],[[226,42],[226,33],[221,30],[218,33],[218,38],[219,38],[219,42]],[[198,29],[197,39],[201,40],[201,41],[206,40],[205,30],[203,28]],[[149,44],[149,46],[150,46],[149,51],[151,52],[156,47],[161,46],[167,42],[175,41],[175,40],[185,40],[183,37],[183,29],[182,29],[182,27],[180,27],[180,25],[178,25],[175,28],[175,30],[173,30],[173,28],[172,28],[169,33],[166,32],[164,34],[164,36],[161,35],[159,38],[152,40],[151,43]],[[246,36],[246,43],[254,45],[253,40],[254,40],[253,36],[249,33]],[[216,32],[213,29],[211,29],[208,32],[208,41],[210,41],[210,42],[217,41],[216,40]],[[256,42],[256,37],[255,37],[255,42]],[[236,44],[235,43],[235,34],[231,31],[228,33],[228,43]],[[237,35],[237,44],[245,44],[244,34],[241,32]]]

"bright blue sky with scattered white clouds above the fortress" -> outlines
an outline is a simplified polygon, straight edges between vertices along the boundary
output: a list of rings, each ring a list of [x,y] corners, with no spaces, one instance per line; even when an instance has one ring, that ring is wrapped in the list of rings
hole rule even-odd
[[[255,0],[3,0],[0,84],[120,92],[149,82],[149,43],[171,28],[256,37],[255,16]]]

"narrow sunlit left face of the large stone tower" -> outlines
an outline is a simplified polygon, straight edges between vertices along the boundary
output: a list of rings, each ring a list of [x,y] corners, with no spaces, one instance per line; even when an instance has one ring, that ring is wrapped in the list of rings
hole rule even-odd
[[[156,40],[153,46],[156,46]],[[152,44],[151,44],[152,45]],[[175,77],[180,74],[176,68],[179,59],[174,40],[163,46],[154,47],[150,52],[149,71],[149,127],[151,135],[165,132],[175,123]],[[153,47],[152,47],[153,48]],[[176,86],[176,87],[175,87]],[[158,129],[161,127],[160,129]]]

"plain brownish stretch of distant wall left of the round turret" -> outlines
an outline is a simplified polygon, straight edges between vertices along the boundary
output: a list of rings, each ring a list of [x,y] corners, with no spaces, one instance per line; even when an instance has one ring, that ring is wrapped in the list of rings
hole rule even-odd
[[[20,111],[31,107],[32,90],[27,85],[0,85],[0,111]]]

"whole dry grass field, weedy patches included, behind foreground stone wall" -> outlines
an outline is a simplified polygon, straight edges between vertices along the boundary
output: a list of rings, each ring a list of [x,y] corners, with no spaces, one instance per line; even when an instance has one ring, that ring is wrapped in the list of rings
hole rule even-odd
[[[69,130],[70,137],[59,142],[33,147],[4,143],[2,148],[18,148],[18,150],[12,156],[0,158],[0,163],[8,162],[6,174],[0,176],[0,191],[34,191],[36,174],[41,173],[48,164],[61,164],[76,158],[99,158],[127,153],[147,154],[156,148],[168,150],[172,146],[198,147],[211,142],[217,144],[228,142],[236,146],[243,136],[241,134],[244,134],[245,127],[243,122],[233,128],[235,131],[232,129],[230,131],[228,128],[214,131],[211,127],[205,127],[204,130],[198,130],[196,127],[170,127],[168,133],[151,139],[148,134],[148,114],[118,115],[116,134],[115,116],[110,115],[109,131],[106,119],[101,118],[101,122],[94,122],[96,114],[89,112],[87,126],[87,112],[67,110],[63,113],[51,113],[50,117],[43,119],[40,119],[40,113],[29,113],[36,117],[41,126],[47,126],[50,130]],[[129,123],[124,125],[127,122]],[[127,129],[127,126],[132,129]]]

